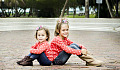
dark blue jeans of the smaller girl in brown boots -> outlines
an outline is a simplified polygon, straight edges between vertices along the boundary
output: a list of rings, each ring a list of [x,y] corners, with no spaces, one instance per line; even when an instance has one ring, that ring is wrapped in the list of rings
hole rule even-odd
[[[37,61],[39,62],[40,65],[43,66],[50,66],[51,65],[51,61],[47,58],[47,56],[45,55],[45,53],[41,53],[41,54],[33,54],[30,53],[28,56],[30,56],[30,58],[32,59],[37,59]]]

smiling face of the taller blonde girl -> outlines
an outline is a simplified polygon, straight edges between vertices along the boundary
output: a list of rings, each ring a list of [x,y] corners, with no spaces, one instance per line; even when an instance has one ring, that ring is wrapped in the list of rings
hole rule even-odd
[[[61,29],[60,29],[60,33],[59,36],[64,39],[65,37],[68,37],[69,35],[69,26],[68,24],[62,24],[61,25]]]

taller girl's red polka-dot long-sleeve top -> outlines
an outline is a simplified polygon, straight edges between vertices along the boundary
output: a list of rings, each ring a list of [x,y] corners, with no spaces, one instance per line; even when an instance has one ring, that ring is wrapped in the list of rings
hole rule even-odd
[[[68,38],[64,38],[62,40],[59,36],[54,37],[51,41],[50,48],[46,51],[46,56],[50,61],[54,61],[54,59],[59,55],[61,51],[65,51],[70,54],[81,55],[81,50],[72,49],[69,46],[73,42]],[[79,45],[81,49],[86,49],[84,46]]]

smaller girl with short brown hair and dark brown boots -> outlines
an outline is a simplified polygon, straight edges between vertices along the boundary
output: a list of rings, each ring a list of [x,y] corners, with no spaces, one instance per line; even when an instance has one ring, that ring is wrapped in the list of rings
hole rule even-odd
[[[36,28],[35,38],[37,43],[30,49],[30,54],[22,60],[17,61],[17,64],[22,66],[33,66],[33,61],[38,60],[40,65],[51,65],[51,61],[47,58],[47,49],[50,48],[48,43],[50,37],[49,30],[42,26]]]

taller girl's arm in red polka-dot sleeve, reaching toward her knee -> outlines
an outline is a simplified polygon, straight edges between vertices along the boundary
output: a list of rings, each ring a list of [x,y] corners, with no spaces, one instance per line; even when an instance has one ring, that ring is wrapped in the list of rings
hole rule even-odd
[[[53,44],[59,46],[62,50],[64,50],[67,53],[70,54],[76,54],[76,55],[81,55],[81,50],[76,50],[70,47],[67,47],[62,40],[59,40],[58,38],[54,38],[52,41]]]

